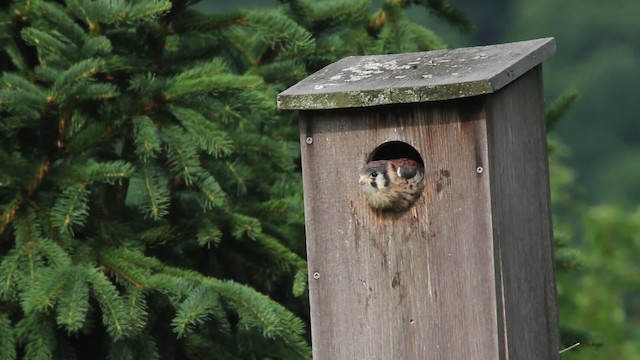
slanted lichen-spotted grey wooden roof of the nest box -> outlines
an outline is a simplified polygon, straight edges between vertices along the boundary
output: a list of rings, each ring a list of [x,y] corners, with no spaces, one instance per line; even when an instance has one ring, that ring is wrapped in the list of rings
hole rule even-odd
[[[428,102],[488,94],[549,56],[553,38],[416,53],[350,56],[278,95],[281,110]]]

